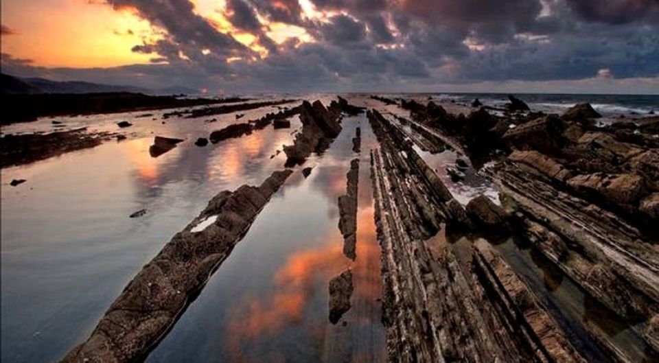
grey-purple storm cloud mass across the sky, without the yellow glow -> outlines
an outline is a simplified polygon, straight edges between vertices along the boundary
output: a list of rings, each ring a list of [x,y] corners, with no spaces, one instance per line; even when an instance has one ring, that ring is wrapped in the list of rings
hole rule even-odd
[[[257,37],[268,49],[264,58],[219,33],[188,0],[107,1],[137,8],[166,31],[133,48],[154,54],[154,64],[44,69],[8,58],[10,69],[233,91],[659,76],[659,0],[311,0],[332,12],[323,20],[306,19],[297,0],[227,0],[228,20]],[[277,45],[266,35],[268,22],[303,27],[314,43],[292,38]]]

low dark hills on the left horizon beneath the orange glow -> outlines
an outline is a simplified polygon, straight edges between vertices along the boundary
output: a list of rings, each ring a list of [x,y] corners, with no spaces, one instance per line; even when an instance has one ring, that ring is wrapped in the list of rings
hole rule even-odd
[[[104,93],[132,92],[145,95],[196,94],[195,89],[171,86],[164,89],[147,89],[137,86],[115,86],[80,81],[58,82],[45,78],[18,78],[0,73],[0,94],[35,94],[35,93]]]

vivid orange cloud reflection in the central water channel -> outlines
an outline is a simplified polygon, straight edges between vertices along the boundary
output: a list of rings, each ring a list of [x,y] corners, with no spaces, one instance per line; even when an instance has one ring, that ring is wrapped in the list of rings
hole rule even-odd
[[[368,175],[367,173],[365,173]],[[364,174],[360,178],[365,178]],[[369,182],[369,180],[365,180]],[[334,188],[332,181],[328,185]],[[228,345],[232,358],[236,362],[249,360],[244,355],[250,341],[269,334],[273,336],[284,327],[305,323],[303,329],[308,331],[314,340],[322,342],[325,339],[325,329],[329,324],[327,308],[312,312],[324,316],[325,323],[320,326],[308,326],[308,304],[314,294],[327,294],[329,280],[346,268],[353,272],[354,293],[351,297],[351,321],[360,325],[380,324],[380,307],[376,299],[382,294],[380,281],[380,246],[378,245],[374,208],[371,204],[371,189],[369,183],[360,183],[361,191],[369,198],[362,198],[366,205],[360,205],[357,222],[357,258],[350,261],[343,255],[343,237],[336,229],[329,231],[323,237],[323,243],[312,249],[298,250],[292,253],[273,277],[275,291],[266,296],[248,298],[244,304],[235,306],[231,316]],[[343,173],[343,192],[345,192],[345,172]],[[319,284],[321,284],[319,286]],[[317,321],[317,320],[316,320]],[[322,344],[321,344],[322,346]],[[373,352],[354,352],[354,358],[372,358]],[[253,357],[252,357],[253,358]],[[366,359],[365,361],[369,361]]]

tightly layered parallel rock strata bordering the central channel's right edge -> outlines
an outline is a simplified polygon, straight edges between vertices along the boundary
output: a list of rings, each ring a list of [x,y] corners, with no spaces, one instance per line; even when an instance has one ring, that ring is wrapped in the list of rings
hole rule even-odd
[[[383,322],[392,362],[581,362],[551,316],[489,243],[443,238],[472,225],[404,135],[369,112]]]

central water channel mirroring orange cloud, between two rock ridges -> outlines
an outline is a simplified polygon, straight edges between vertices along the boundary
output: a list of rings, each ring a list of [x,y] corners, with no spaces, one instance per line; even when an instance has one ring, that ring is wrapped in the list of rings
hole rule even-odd
[[[354,128],[362,129],[356,261],[342,253],[338,196],[345,194]],[[364,116],[344,130],[310,176],[296,172],[268,203],[149,362],[382,362],[380,248],[375,239]],[[352,307],[329,323],[328,284],[353,272]],[[345,325],[343,324],[345,322]]]

